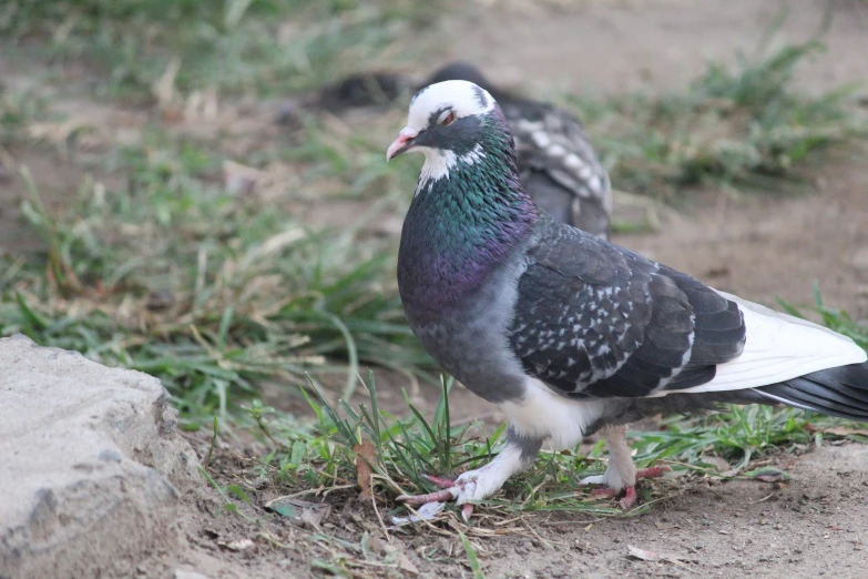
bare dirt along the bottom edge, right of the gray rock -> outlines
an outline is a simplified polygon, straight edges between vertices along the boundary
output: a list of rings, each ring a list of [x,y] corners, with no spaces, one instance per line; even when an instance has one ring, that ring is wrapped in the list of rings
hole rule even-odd
[[[204,438],[193,440],[200,451],[207,448]],[[218,474],[249,466],[233,458],[235,449],[217,455],[212,470]],[[464,531],[489,579],[865,577],[865,448],[826,446],[769,464],[786,469],[793,479],[786,484],[664,479],[655,482],[655,494],[665,498],[642,516],[594,521],[582,515],[529,515],[502,527],[502,536],[491,536],[491,519],[483,509],[477,515],[478,527]],[[382,538],[372,509],[358,502],[355,491],[327,497],[328,514],[318,525],[282,517],[247,522],[222,511],[216,497],[201,487],[186,489],[183,497],[177,530],[186,548],[181,555],[154,553],[146,561],[131,562],[130,576],[165,578],[177,571],[175,577],[185,579],[201,578],[184,572],[214,579],[328,576],[316,570],[316,561],[339,560],[334,556],[341,549],[330,542],[335,539],[324,537],[356,545],[364,534]],[[275,497],[263,492],[254,500],[270,498]],[[255,516],[243,504],[241,510]],[[394,550],[410,565],[400,571],[372,565],[359,570],[358,577],[472,577],[458,538],[445,535],[392,530],[390,545],[372,539],[368,545],[374,552]],[[641,549],[645,559],[632,556],[634,549]]]

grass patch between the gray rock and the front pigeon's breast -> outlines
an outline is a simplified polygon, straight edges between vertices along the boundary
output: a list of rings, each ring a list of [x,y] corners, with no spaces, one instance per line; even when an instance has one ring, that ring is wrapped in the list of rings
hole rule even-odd
[[[0,255],[0,334],[153,374],[195,420],[268,379],[346,373],[349,394],[360,364],[430,368],[404,323],[395,241],[362,230],[405,203],[415,175],[374,163],[379,142],[355,138],[346,154],[343,139],[307,131],[304,149],[275,140],[251,153],[266,167],[298,160],[274,197],[231,191],[225,153],[157,128],[115,150],[125,180],[90,180],[59,209],[31,175],[23,213],[48,251]],[[308,186],[378,201],[350,226],[312,228],[284,190]]]

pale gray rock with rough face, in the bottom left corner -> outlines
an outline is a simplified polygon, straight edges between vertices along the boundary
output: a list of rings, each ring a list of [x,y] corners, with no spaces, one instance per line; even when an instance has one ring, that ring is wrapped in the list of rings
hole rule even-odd
[[[174,551],[195,464],[156,378],[0,339],[0,578],[121,576]]]

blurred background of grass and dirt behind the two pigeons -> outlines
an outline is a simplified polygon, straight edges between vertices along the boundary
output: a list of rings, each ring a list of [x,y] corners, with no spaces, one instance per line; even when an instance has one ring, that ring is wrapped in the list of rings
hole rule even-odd
[[[617,243],[864,337],[866,29],[860,0],[7,0],[0,335],[156,375],[191,429],[304,414],[308,374],[423,404],[395,282],[421,160],[384,152],[460,59],[582,119]],[[341,102],[366,71],[409,80]]]

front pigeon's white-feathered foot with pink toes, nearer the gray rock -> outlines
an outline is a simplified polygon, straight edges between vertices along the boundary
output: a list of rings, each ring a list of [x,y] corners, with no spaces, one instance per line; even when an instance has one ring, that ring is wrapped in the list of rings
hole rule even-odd
[[[412,507],[419,507],[428,502],[443,502],[455,499],[456,504],[461,506],[461,517],[467,522],[473,514],[473,505],[469,501],[492,496],[509,478],[512,471],[503,468],[504,466],[503,461],[499,463],[496,459],[482,468],[463,473],[455,480],[423,475],[441,490],[427,495],[401,495],[397,500]]]

